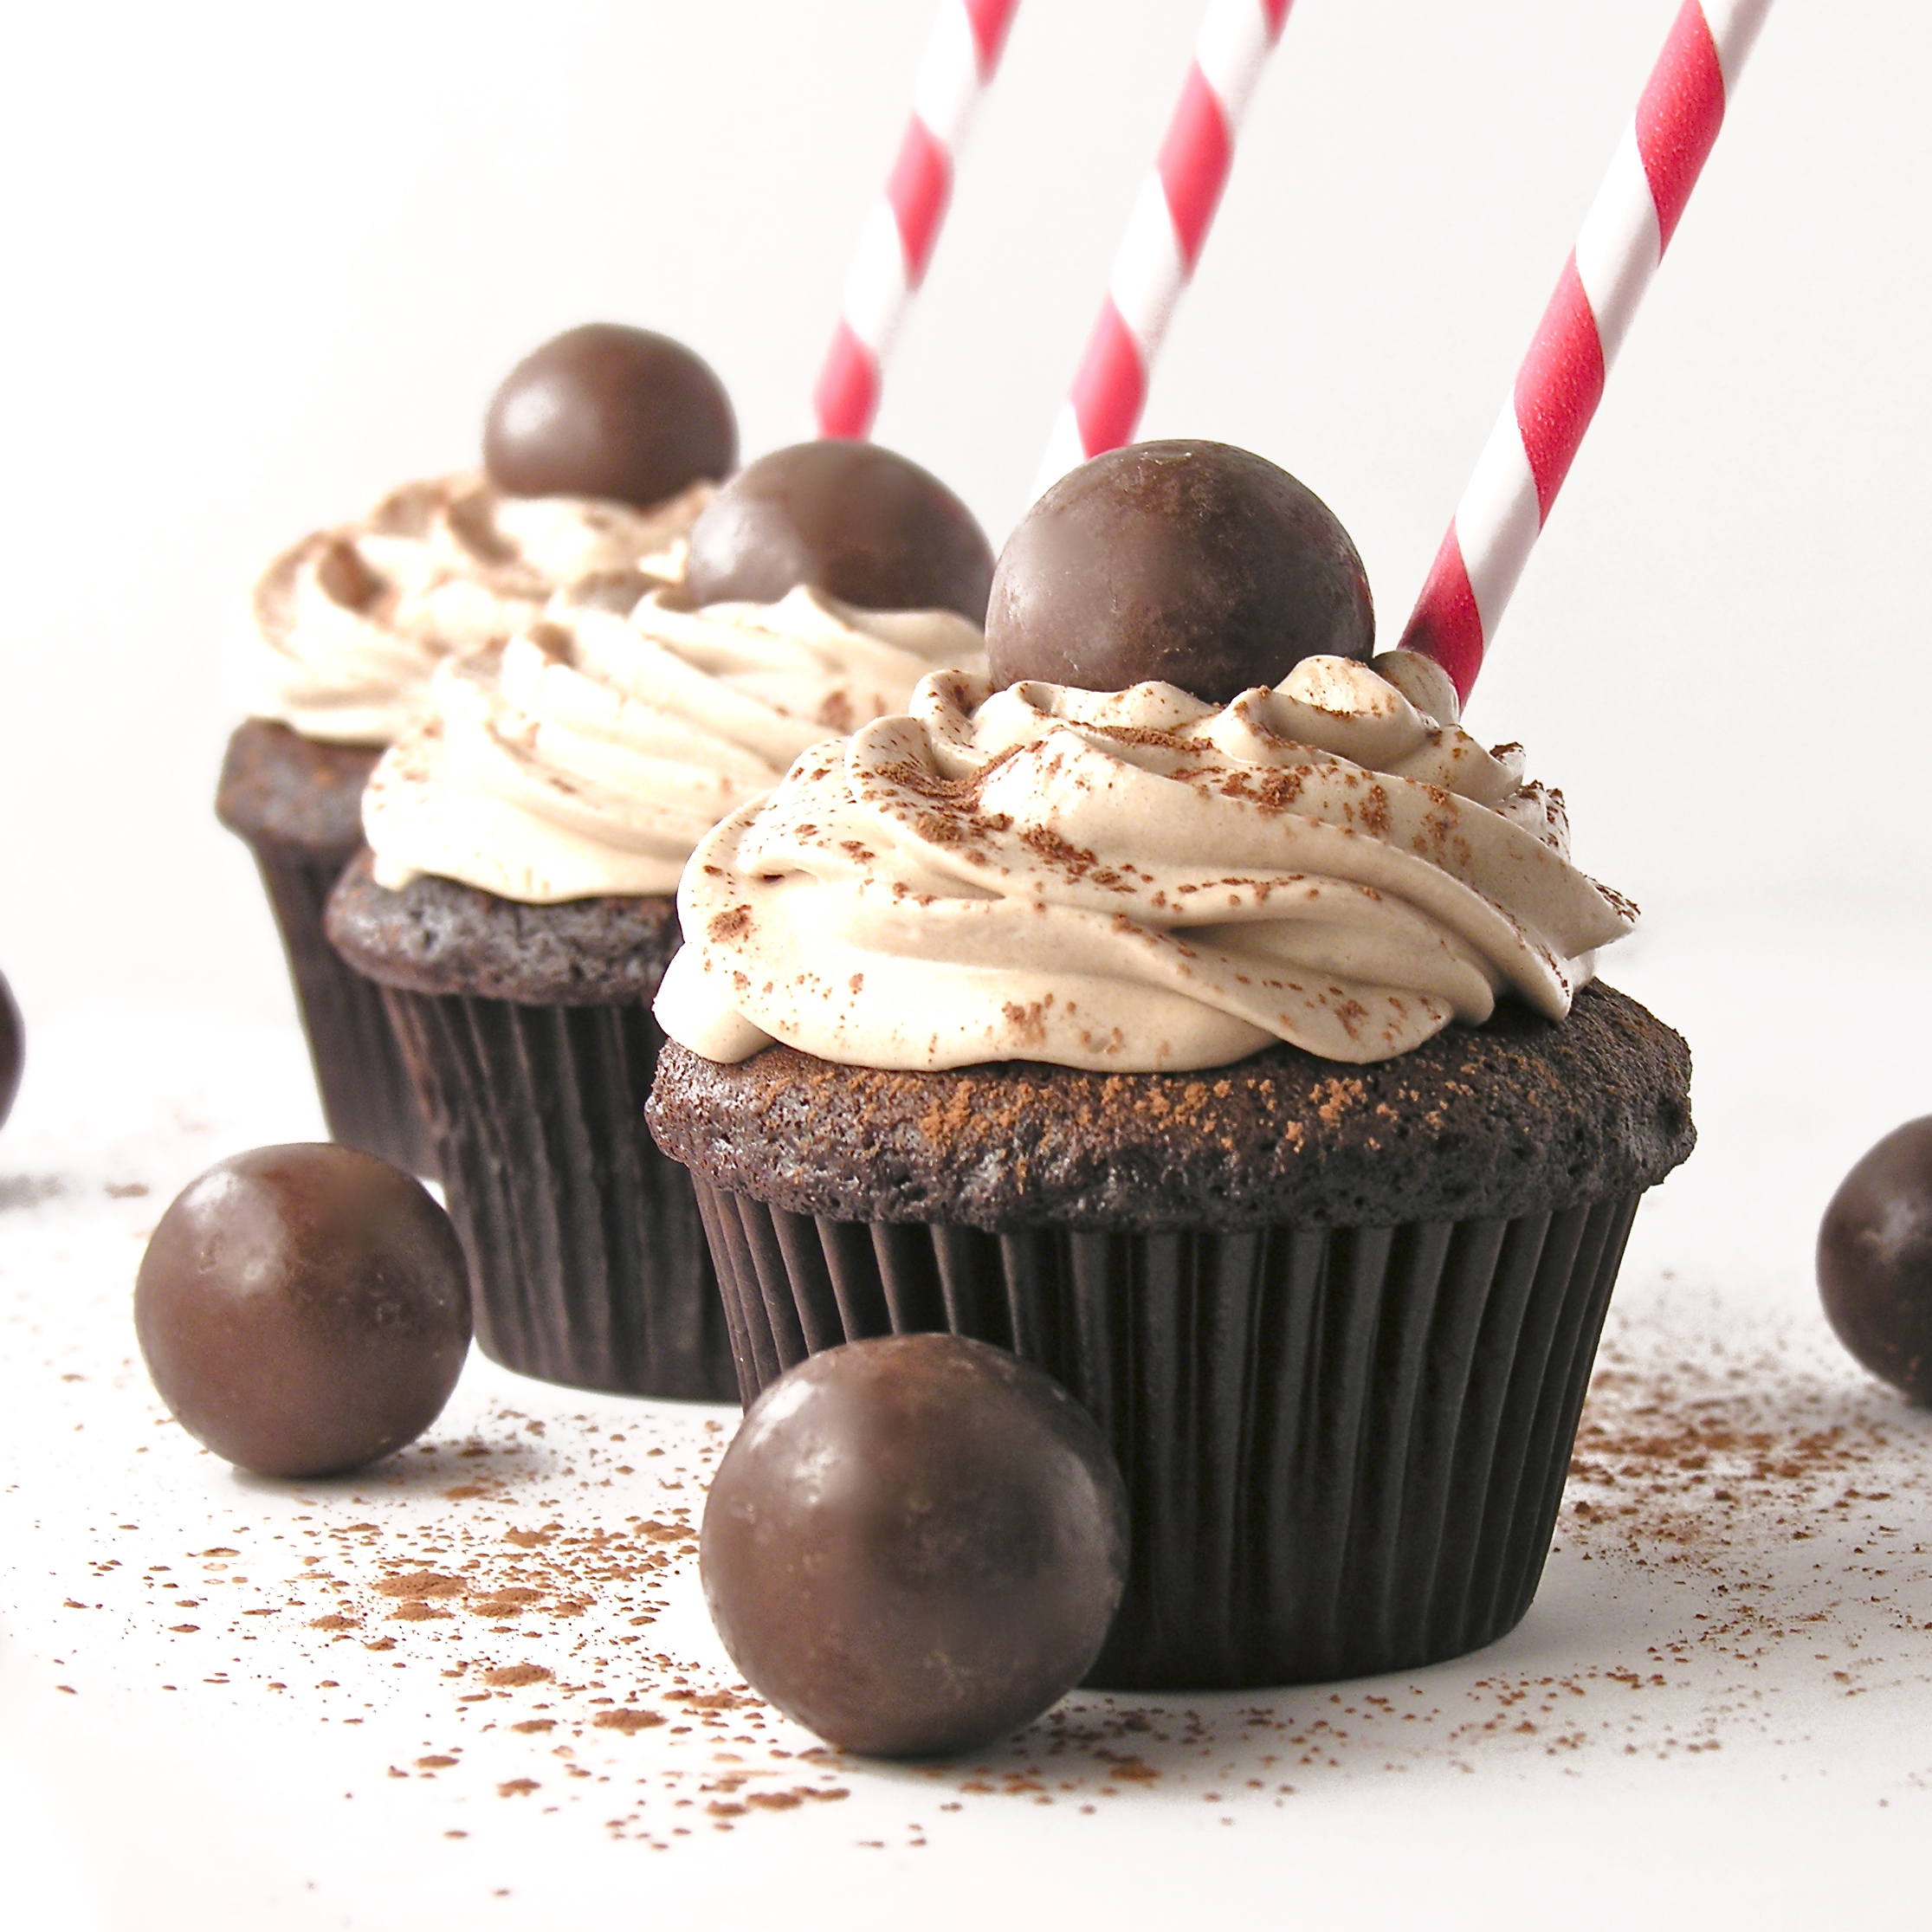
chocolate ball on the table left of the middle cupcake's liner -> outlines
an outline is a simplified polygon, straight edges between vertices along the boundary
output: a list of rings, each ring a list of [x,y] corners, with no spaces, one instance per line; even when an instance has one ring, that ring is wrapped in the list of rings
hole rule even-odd
[[[259,1476],[328,1476],[437,1420],[469,1349],[469,1279],[413,1175],[352,1148],[255,1148],[160,1217],[133,1325],[189,1435]]]

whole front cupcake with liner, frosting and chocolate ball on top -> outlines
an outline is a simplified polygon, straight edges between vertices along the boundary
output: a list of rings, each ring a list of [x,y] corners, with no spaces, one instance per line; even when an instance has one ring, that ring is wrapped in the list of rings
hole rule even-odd
[[[1501,1636],[1692,1144],[1683,1041],[1590,983],[1633,910],[1437,667],[1372,659],[1341,526],[1246,452],[1063,479],[987,643],[680,887],[649,1121],[746,1401],[887,1331],[1057,1376],[1134,1520],[1092,1683]]]

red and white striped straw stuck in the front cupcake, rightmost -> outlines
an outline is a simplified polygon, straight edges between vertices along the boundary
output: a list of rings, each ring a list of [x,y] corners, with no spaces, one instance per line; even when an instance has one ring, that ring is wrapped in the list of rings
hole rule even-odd
[[[1468,697],[1772,0],[1685,0],[1416,601],[1405,651]]]

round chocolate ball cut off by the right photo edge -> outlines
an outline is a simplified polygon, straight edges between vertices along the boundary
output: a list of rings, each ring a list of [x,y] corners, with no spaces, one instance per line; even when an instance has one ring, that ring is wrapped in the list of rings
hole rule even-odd
[[[1818,1293],[1880,1381],[1932,1403],[1932,1115],[1893,1128],[1839,1182],[1818,1229]]]

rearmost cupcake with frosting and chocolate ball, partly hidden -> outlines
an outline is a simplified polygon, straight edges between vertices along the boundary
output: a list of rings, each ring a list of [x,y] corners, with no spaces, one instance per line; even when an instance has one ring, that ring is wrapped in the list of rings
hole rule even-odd
[[[558,585],[609,570],[678,582],[736,442],[696,355],[593,323],[504,381],[485,471],[404,485],[294,545],[257,583],[238,665],[247,721],[228,742],[216,813],[255,854],[328,1132],[346,1146],[435,1173],[381,1001],[323,937],[381,750],[429,717],[437,665],[527,628]]]

